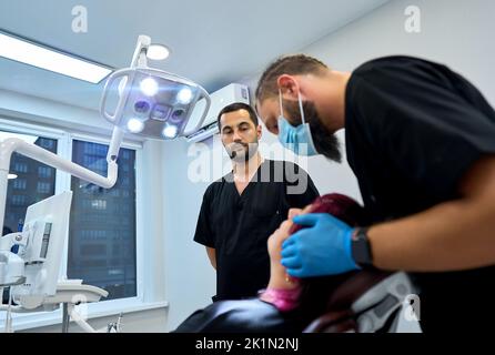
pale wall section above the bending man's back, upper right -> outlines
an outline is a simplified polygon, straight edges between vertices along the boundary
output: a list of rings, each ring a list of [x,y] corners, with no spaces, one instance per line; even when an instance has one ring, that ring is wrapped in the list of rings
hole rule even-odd
[[[404,30],[408,6],[417,6],[422,31]],[[447,64],[462,73],[493,103],[495,87],[492,0],[396,0],[361,20],[316,41],[305,53],[339,70],[353,70],[362,62],[390,54],[416,55]]]

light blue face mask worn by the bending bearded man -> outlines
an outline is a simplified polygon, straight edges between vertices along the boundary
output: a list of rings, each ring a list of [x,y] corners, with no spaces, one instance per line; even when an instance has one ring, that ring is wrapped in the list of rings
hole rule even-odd
[[[319,153],[313,143],[310,124],[305,121],[304,118],[303,101],[301,100],[300,91],[297,91],[297,98],[301,120],[303,122],[297,126],[293,126],[283,115],[284,111],[282,106],[282,92],[279,89],[279,141],[284,148],[293,151],[297,155],[317,155]]]

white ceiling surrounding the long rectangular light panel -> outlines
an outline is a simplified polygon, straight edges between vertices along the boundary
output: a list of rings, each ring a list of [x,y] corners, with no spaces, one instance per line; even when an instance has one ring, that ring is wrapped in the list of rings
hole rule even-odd
[[[115,69],[129,67],[139,34],[172,49],[150,65],[208,91],[257,74],[283,53],[388,0],[0,0],[0,30]],[[88,9],[88,32],[72,31],[72,9]],[[104,82],[104,81],[103,81]],[[90,84],[0,58],[0,88],[97,109],[103,82]]]

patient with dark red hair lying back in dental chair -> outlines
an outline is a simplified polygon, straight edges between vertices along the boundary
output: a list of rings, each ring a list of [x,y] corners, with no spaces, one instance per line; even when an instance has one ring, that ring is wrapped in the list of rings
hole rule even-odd
[[[327,311],[339,285],[356,272],[336,276],[293,278],[281,264],[282,243],[302,229],[292,217],[304,213],[330,213],[348,225],[366,224],[364,209],[353,199],[337,194],[317,197],[304,210],[292,209],[289,219],[269,237],[270,282],[259,297],[220,301],[191,314],[176,333],[277,333],[302,332]]]

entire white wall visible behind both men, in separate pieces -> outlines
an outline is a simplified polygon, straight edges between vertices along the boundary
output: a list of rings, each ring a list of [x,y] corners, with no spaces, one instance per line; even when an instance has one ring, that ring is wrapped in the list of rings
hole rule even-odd
[[[422,11],[421,33],[413,34],[404,30],[404,10],[411,4],[420,7]],[[392,1],[315,41],[302,52],[320,58],[332,68],[348,71],[381,55],[423,57],[446,63],[461,72],[494,103],[494,13],[495,2],[492,0]],[[260,68],[260,72],[262,70]],[[245,82],[254,87],[256,80],[257,75],[254,75]],[[342,138],[343,132],[339,134]],[[262,141],[272,143],[276,139],[265,131]],[[219,148],[219,143],[209,144]],[[209,302],[215,280],[204,250],[192,242],[201,197],[208,184],[194,184],[186,180],[190,161],[185,158],[186,143],[173,142],[165,144],[163,150],[168,182],[163,215],[169,247],[166,288],[170,301],[169,326],[173,328],[188,314]],[[307,170],[321,193],[337,191],[360,199],[355,178],[347,164],[337,165],[323,158],[312,158]],[[218,169],[215,173],[221,171]],[[414,329],[407,325],[403,328]]]

